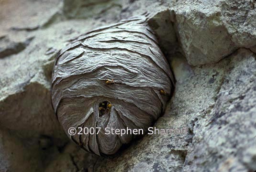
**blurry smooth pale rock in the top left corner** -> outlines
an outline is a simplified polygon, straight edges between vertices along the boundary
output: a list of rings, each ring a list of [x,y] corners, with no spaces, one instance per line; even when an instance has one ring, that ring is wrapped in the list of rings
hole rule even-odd
[[[4,16],[1,30],[33,31],[52,18],[60,0],[1,0],[0,3],[0,16]]]

